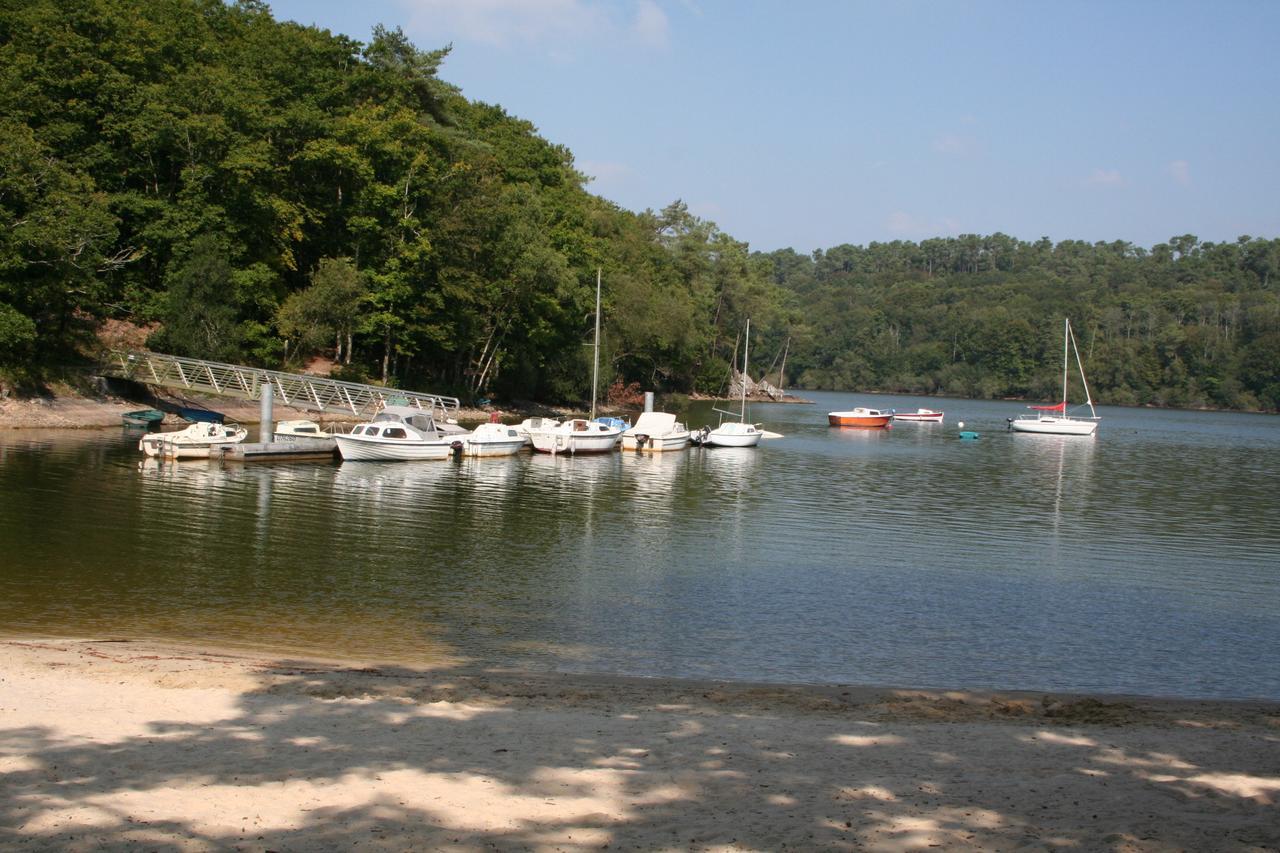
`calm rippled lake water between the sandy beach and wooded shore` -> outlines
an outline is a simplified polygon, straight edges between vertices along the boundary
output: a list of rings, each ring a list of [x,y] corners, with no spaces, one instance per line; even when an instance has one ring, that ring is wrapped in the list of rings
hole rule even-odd
[[[809,396],[753,406],[785,439],[666,456],[161,466],[136,433],[0,433],[0,630],[1280,699],[1280,419],[1059,438],[1005,432],[1016,403]],[[947,415],[827,426],[854,405]]]

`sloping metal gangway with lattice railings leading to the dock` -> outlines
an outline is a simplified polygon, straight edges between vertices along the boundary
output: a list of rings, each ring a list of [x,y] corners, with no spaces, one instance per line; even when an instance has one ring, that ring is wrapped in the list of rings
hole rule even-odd
[[[457,397],[362,386],[326,377],[246,368],[145,350],[111,351],[102,373],[147,386],[239,400],[262,400],[269,388],[270,396],[285,406],[349,414],[356,418],[371,418],[388,405],[415,406],[429,411],[435,420],[443,423],[454,418],[460,407]]]

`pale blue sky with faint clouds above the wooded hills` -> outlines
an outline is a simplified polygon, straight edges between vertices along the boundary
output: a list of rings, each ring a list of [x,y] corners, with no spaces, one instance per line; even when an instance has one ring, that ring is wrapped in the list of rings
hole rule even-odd
[[[269,0],[753,250],[1002,232],[1280,237],[1280,3]]]

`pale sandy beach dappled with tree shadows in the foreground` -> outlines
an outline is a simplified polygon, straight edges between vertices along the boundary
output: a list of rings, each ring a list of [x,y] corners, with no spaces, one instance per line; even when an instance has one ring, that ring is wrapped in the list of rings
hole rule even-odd
[[[8,849],[1280,848],[1276,703],[0,649]]]

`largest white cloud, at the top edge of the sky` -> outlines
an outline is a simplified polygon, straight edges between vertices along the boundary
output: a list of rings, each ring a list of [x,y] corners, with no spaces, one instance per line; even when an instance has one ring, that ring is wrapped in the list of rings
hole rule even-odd
[[[667,14],[657,0],[618,8],[590,0],[399,0],[416,36],[458,38],[498,47],[566,45],[630,37],[649,47],[667,44]],[[630,9],[635,10],[628,19]]]

